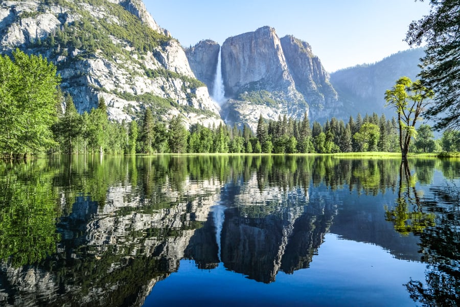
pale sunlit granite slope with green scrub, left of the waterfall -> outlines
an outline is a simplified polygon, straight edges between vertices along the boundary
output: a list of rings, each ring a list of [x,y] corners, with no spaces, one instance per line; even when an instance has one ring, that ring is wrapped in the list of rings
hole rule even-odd
[[[103,97],[112,120],[130,121],[152,108],[159,120],[182,115],[187,125],[222,122],[182,47],[141,0],[3,2],[0,33],[2,53],[19,48],[57,65],[61,87],[79,112]]]

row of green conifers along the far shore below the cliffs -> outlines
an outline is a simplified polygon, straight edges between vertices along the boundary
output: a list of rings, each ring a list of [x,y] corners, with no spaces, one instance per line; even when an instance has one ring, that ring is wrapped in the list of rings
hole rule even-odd
[[[324,125],[279,117],[259,118],[256,133],[242,129],[205,127],[194,124],[187,130],[179,116],[168,125],[155,121],[150,109],[130,123],[111,123],[103,99],[91,113],[79,115],[70,96],[64,114],[53,127],[62,153],[333,153],[352,151],[399,151],[396,120],[384,115],[350,116],[347,123],[336,118]]]

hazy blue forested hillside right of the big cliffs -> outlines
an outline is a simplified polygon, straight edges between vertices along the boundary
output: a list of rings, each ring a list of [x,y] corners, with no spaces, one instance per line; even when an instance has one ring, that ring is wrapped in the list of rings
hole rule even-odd
[[[363,64],[331,74],[331,83],[343,104],[342,117],[358,113],[385,113],[394,116],[394,110],[385,108],[385,91],[402,76],[416,80],[420,72],[422,48],[410,49],[390,55],[374,64]]]

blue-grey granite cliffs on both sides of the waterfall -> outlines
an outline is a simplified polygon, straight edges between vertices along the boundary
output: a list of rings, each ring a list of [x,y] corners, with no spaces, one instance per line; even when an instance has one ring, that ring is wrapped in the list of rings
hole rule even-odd
[[[192,49],[200,50],[187,53],[189,61],[198,64],[192,70],[208,87],[213,86],[214,79],[202,72],[216,71],[218,53],[203,48],[203,42]],[[209,60],[202,61],[205,57]],[[309,113],[320,120],[332,116],[338,106],[329,75],[308,43],[292,36],[280,39],[273,28],[227,38],[221,62],[228,99],[221,116],[228,124],[245,123],[254,130],[259,115],[273,120],[284,114],[301,119]]]

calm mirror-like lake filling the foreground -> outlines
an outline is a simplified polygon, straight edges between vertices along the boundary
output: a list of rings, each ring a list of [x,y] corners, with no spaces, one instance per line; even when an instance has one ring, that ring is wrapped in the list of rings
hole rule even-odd
[[[460,305],[460,159],[0,162],[1,306]]]

